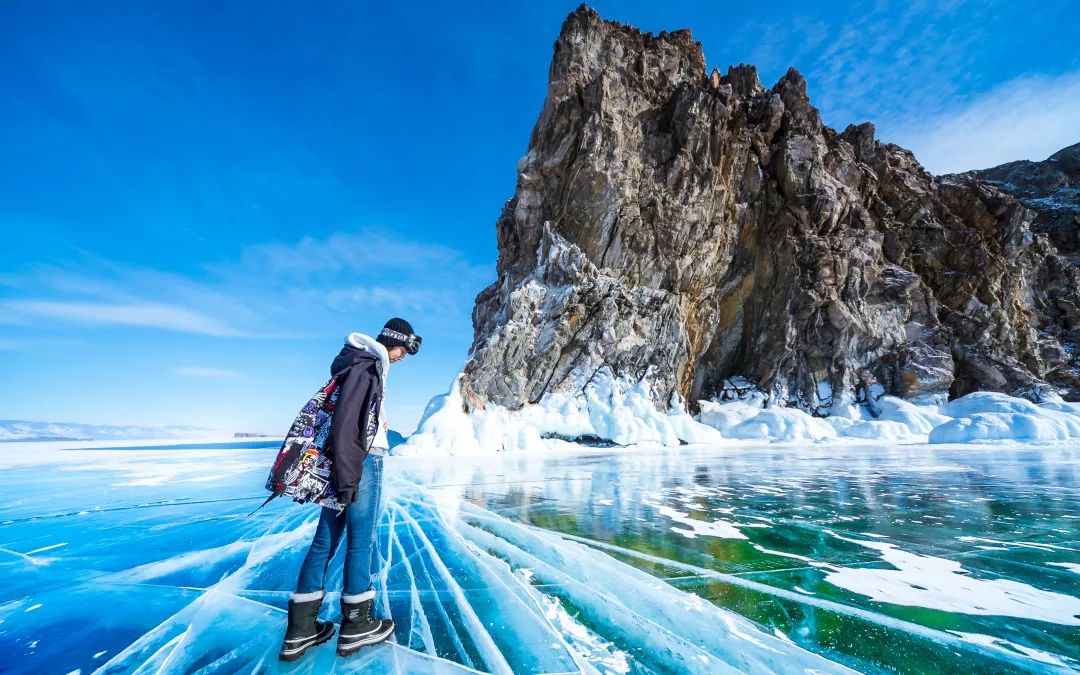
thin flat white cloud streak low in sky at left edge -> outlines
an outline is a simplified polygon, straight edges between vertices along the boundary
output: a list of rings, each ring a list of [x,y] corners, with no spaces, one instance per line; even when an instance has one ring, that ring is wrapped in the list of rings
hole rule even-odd
[[[121,325],[163,328],[216,337],[244,334],[229,324],[185,307],[153,302],[108,303],[51,300],[13,300],[2,306],[6,312],[87,325]]]

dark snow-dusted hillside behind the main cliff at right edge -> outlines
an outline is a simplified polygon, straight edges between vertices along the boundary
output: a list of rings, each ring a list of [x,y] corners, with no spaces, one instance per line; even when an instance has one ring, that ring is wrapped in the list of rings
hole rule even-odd
[[[1021,160],[957,177],[974,178],[1016,197],[1036,214],[1031,230],[1050,238],[1074,264],[1080,261],[1080,143],[1042,162]]]

